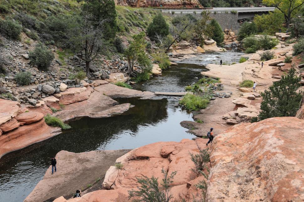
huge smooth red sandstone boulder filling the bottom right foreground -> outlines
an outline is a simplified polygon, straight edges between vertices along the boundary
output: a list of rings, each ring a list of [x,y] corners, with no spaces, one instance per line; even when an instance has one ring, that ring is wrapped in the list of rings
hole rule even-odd
[[[212,143],[207,201],[303,201],[304,120],[238,124]]]

